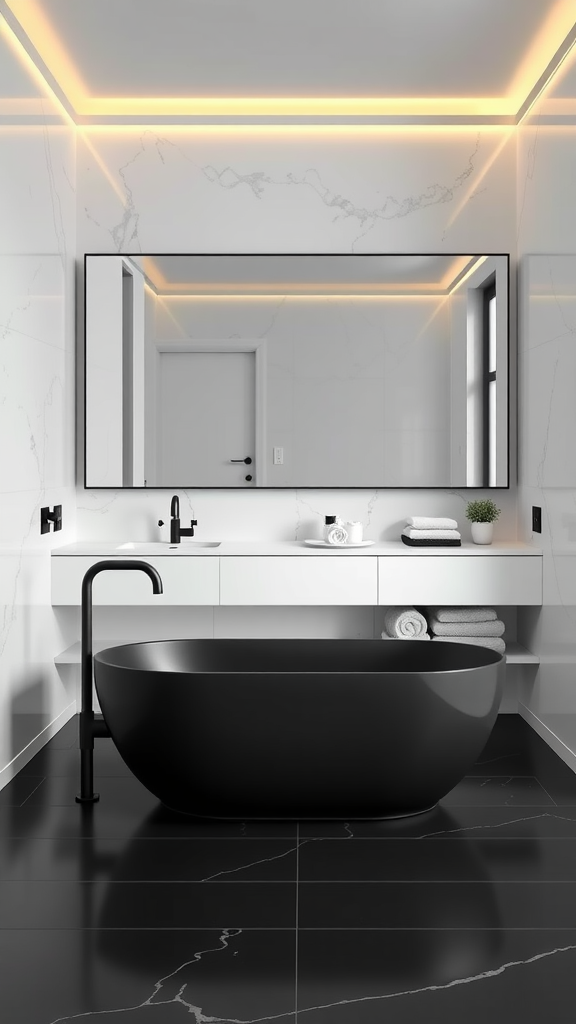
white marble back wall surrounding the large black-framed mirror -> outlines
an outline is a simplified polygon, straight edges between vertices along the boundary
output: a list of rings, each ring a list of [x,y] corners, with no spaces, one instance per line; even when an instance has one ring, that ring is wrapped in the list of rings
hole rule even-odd
[[[118,128],[79,133],[78,253],[510,252],[516,141],[509,129]],[[81,410],[80,416],[81,416]],[[513,419],[513,416],[512,416]],[[516,449],[512,436],[511,451]],[[457,489],[180,492],[204,539],[315,537],[325,514],[398,538],[407,515],[456,517]],[[163,490],[78,489],[78,538],[150,540]],[[183,501],[182,501],[183,500]],[[516,488],[497,492],[496,538],[517,536]],[[161,636],[158,618],[130,637]],[[95,631],[117,637],[97,615]],[[126,620],[126,628],[128,628]],[[181,635],[373,636],[365,609],[198,609]],[[114,632],[111,632],[114,631]]]

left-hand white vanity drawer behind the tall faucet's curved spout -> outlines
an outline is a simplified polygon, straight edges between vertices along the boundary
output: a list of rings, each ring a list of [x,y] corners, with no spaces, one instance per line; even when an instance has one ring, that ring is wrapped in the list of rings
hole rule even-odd
[[[101,558],[70,556],[52,558],[52,604],[80,604],[86,569]],[[164,592],[153,594],[143,572],[100,572],[92,584],[92,603],[97,604],[217,604],[218,558],[130,558],[147,561],[160,572]]]

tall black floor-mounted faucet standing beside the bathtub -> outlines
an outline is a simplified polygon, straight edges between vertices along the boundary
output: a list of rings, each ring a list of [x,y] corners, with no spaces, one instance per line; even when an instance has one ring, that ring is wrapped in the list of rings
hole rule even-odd
[[[82,580],[82,709],[80,711],[80,794],[79,804],[99,800],[94,793],[94,737],[110,736],[104,719],[94,718],[92,703],[92,581],[105,569],[140,569],[152,580],[155,594],[162,594],[162,578],[154,565],[126,558],[105,559],[90,565]]]

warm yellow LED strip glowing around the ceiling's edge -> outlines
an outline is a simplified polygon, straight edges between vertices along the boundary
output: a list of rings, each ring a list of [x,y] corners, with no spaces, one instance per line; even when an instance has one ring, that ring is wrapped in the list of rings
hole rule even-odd
[[[424,123],[466,120],[476,123],[516,124],[526,116],[535,99],[547,87],[575,39],[574,0],[558,0],[537,38],[522,60],[504,96],[418,96],[418,97],[199,97],[199,96],[91,96],[78,69],[46,18],[38,0],[0,0],[14,33],[32,44],[38,66],[61,92],[77,123],[101,119],[137,119],[143,123],[180,123],[189,119],[227,118],[327,118],[381,119],[385,123],[411,120],[411,127]],[[570,45],[563,44],[569,40]],[[22,40],[24,42],[24,40]],[[556,61],[556,63],[554,63]]]

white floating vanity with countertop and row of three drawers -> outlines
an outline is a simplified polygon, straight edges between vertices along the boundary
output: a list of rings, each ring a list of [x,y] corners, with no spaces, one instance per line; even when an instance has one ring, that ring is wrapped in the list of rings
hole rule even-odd
[[[145,559],[160,572],[154,596],[139,573],[100,573],[93,602],[108,605],[541,605],[542,552],[528,545],[307,548],[297,541],[111,544],[52,551],[52,604],[79,605],[86,569],[102,558]]]

